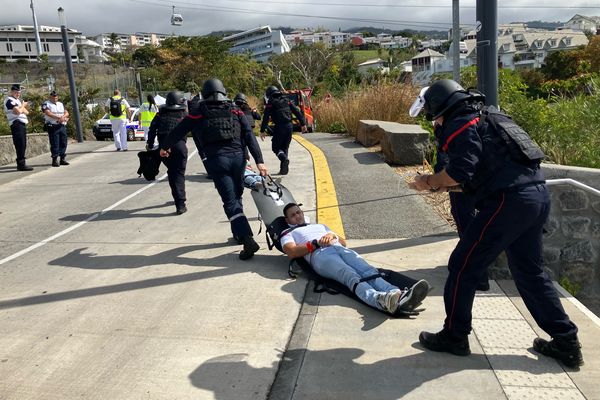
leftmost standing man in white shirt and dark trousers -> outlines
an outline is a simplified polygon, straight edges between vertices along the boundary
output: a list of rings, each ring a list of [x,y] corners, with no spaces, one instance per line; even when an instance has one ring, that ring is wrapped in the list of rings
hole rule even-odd
[[[17,171],[31,171],[33,168],[25,163],[25,150],[27,149],[27,102],[21,101],[21,85],[15,83],[10,87],[10,95],[4,100],[4,114],[10,125],[13,144],[17,152]]]

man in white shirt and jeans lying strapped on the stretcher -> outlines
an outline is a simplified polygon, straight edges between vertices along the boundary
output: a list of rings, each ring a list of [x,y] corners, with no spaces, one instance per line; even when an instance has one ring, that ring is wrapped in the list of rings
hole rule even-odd
[[[426,280],[404,290],[392,285],[381,278],[377,268],[346,248],[344,238],[323,224],[306,224],[298,204],[287,204],[283,214],[290,225],[281,236],[283,252],[290,259],[304,257],[317,274],[345,285],[371,307],[390,314],[413,311],[427,296]]]

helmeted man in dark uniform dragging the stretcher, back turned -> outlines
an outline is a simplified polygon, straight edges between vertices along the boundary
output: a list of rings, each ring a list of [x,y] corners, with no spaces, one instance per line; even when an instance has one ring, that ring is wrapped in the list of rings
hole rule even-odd
[[[248,147],[262,176],[267,175],[262,152],[244,113],[227,99],[227,91],[218,79],[209,79],[202,86],[201,102],[194,102],[189,115],[183,119],[161,144],[160,155],[169,156],[173,143],[192,132],[206,156],[205,166],[223,201],[225,214],[234,238],[244,248],[240,259],[251,258],[259,249],[252,229],[244,215],[244,148]]]

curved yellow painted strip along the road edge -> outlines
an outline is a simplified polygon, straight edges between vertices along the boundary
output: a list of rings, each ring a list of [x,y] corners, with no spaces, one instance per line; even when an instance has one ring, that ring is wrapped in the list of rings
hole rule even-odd
[[[293,138],[308,150],[313,159],[315,190],[317,193],[317,222],[327,225],[332,231],[345,238],[344,224],[337,202],[335,185],[325,154],[317,146],[304,139],[302,135],[294,134]]]

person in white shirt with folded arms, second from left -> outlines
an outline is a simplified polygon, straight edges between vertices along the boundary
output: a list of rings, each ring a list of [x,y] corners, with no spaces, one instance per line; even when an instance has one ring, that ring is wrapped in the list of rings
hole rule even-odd
[[[45,128],[48,132],[48,141],[50,142],[50,155],[52,156],[52,166],[69,165],[67,161],[67,122],[69,121],[69,112],[65,109],[62,102],[58,101],[58,93],[50,92],[50,99],[42,104],[44,113]],[[60,157],[60,162],[58,158]]]

